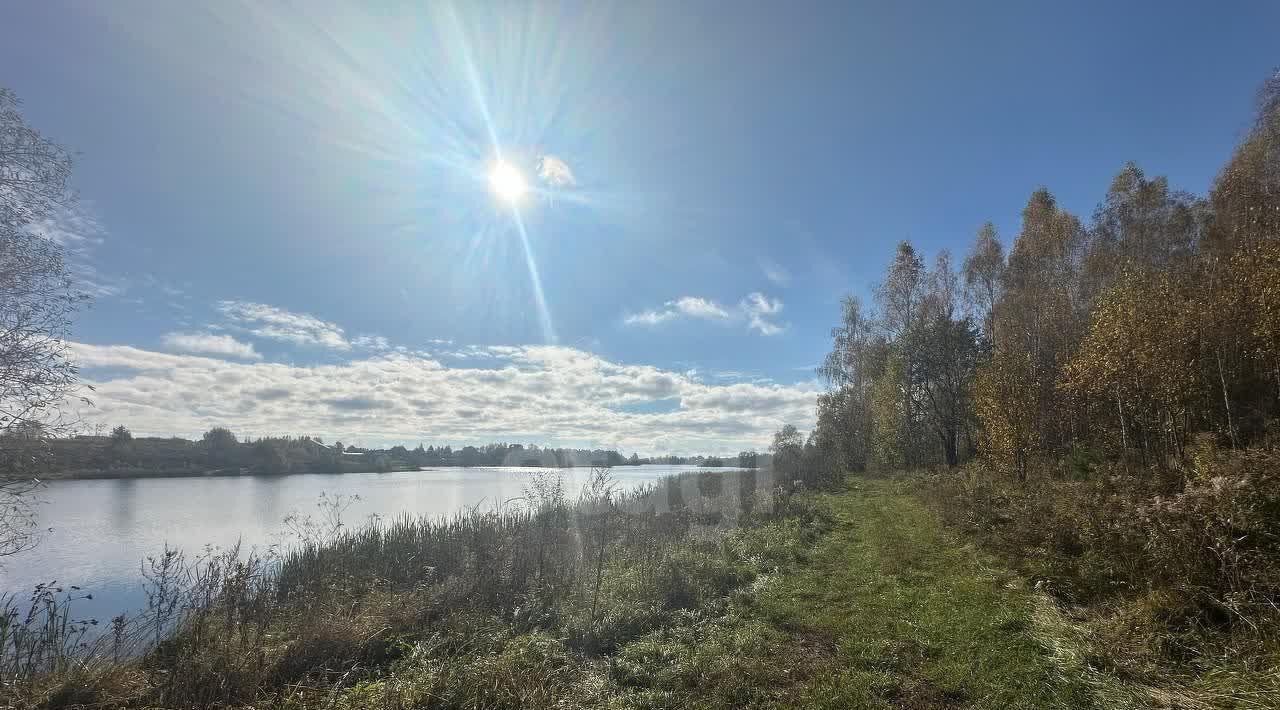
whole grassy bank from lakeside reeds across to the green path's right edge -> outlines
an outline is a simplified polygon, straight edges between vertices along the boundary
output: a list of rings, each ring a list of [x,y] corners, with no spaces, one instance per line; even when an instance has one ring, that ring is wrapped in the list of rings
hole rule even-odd
[[[1079,610],[965,541],[916,480],[765,487],[690,473],[635,495],[602,481],[568,500],[544,480],[520,509],[337,533],[314,521],[315,537],[270,564],[161,556],[147,573],[150,617],[122,628],[141,655],[108,642],[50,652],[17,677],[5,665],[8,702],[1102,709],[1274,697],[1265,669],[1249,683],[1236,673],[1228,692],[1225,665],[1197,684],[1102,663]],[[157,633],[165,626],[179,632]]]

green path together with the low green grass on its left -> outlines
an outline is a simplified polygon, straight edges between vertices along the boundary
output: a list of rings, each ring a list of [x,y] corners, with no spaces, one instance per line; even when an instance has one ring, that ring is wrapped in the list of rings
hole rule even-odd
[[[584,649],[563,626],[520,633],[468,619],[453,641],[416,645],[384,675],[333,693],[333,706],[1112,706],[1065,660],[1071,640],[1039,620],[1043,596],[957,542],[900,482],[800,495],[704,553],[681,560],[701,580],[696,603],[650,606],[653,620],[607,646]],[[607,577],[609,618],[634,619],[667,594],[657,590],[681,588],[666,580],[644,592],[636,576]],[[458,638],[461,654],[449,650]]]

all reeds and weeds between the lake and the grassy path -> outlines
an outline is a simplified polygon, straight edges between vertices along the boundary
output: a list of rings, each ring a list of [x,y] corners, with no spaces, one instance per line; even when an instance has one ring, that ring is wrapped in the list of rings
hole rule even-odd
[[[671,677],[645,643],[754,643],[767,629],[742,626],[737,596],[820,532],[812,509],[776,509],[771,486],[704,472],[618,495],[602,476],[570,500],[544,478],[518,508],[360,530],[337,505],[300,521],[285,553],[147,560],[146,613],[93,642],[67,596],[9,600],[0,681],[47,707],[662,705],[700,672]],[[739,681],[726,669],[723,692],[768,692]]]

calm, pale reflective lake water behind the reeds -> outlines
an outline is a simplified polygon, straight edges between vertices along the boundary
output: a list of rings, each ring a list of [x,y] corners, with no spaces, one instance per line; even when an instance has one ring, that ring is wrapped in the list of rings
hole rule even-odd
[[[634,489],[692,466],[625,466],[612,471]],[[559,473],[576,496],[590,468],[433,468],[394,473],[308,473],[192,478],[50,481],[37,498],[40,545],[5,558],[0,594],[27,595],[37,583],[76,585],[92,600],[77,617],[110,619],[142,606],[141,563],[165,546],[198,554],[206,545],[287,542],[289,513],[316,513],[321,493],[358,495],[343,513],[356,525],[370,516],[447,516],[480,505],[492,509],[520,498],[535,472]],[[705,469],[703,469],[705,471]]]

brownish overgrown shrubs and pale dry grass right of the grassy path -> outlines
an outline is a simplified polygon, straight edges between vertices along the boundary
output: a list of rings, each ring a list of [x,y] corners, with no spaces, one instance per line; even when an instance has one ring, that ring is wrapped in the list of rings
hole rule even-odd
[[[1180,489],[1097,464],[1024,484],[973,466],[915,490],[1046,592],[1055,636],[1132,704],[1280,707],[1280,458],[1189,453]]]

